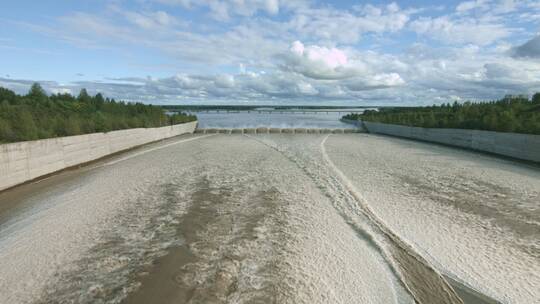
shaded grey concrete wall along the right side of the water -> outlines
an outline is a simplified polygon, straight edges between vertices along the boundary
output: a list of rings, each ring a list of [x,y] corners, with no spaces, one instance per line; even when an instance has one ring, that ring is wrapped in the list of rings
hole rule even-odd
[[[419,139],[540,162],[540,135],[463,129],[428,129],[364,121],[369,133]]]

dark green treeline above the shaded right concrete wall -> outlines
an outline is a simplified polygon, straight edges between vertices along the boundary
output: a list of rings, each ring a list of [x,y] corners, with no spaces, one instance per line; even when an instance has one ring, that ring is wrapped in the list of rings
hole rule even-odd
[[[368,110],[343,118],[423,128],[540,134],[540,93],[530,100],[524,96],[507,96],[491,102]]]

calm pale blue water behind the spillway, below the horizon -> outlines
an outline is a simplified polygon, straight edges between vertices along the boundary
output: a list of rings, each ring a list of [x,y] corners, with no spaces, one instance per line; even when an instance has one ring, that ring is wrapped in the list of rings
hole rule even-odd
[[[356,110],[356,109],[355,109]],[[350,112],[197,112],[200,128],[354,128],[339,119]]]

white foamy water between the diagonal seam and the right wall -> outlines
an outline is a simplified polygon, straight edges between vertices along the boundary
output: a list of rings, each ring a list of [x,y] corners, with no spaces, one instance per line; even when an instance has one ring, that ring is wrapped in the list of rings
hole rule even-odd
[[[531,254],[540,248],[537,236],[520,235],[489,215],[461,210],[478,204],[480,210],[496,209],[515,214],[513,220],[522,224],[538,225],[537,170],[373,135],[333,135],[326,148],[372,210],[445,275],[504,303],[540,298],[540,263]],[[491,199],[504,195],[501,191],[509,192],[506,205]],[[444,203],[458,198],[463,205]]]

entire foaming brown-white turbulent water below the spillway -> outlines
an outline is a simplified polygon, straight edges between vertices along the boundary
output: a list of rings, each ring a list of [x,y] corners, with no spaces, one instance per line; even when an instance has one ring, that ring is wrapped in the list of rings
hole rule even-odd
[[[533,303],[538,189],[380,136],[184,136],[0,194],[0,303]]]

